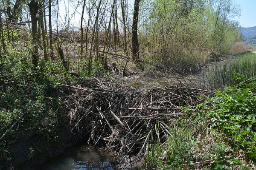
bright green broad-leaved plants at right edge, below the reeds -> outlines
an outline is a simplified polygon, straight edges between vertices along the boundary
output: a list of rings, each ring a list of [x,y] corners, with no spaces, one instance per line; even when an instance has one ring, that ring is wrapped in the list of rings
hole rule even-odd
[[[247,159],[256,161],[256,78],[247,84],[225,88],[207,100],[207,117],[212,132],[236,151],[243,150]],[[211,104],[213,105],[211,105]]]

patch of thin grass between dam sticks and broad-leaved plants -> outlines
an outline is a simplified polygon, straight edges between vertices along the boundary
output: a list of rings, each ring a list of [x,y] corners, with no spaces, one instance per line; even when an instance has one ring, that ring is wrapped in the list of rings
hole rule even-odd
[[[185,170],[196,161],[198,148],[201,146],[192,134],[195,133],[197,126],[191,127],[187,120],[182,119],[173,123],[175,125],[169,129],[170,136],[166,144],[162,147],[160,147],[161,144],[156,144],[145,156],[145,168]],[[164,152],[166,152],[166,158],[163,160]]]

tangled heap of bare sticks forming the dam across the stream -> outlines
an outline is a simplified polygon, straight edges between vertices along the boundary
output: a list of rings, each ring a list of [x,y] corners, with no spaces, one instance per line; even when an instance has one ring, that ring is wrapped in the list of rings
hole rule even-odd
[[[152,88],[137,91],[111,80],[91,79],[76,86],[60,84],[65,109],[74,133],[85,130],[88,142],[105,143],[116,151],[120,164],[128,155],[143,155],[148,144],[164,142],[177,116],[188,117],[182,106],[193,108],[201,95],[213,92],[195,88]],[[154,136],[152,138],[152,136]]]

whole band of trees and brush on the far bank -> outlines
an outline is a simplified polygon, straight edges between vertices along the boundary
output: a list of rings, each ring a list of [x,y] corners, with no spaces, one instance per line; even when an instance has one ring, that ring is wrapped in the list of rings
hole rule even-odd
[[[129,73],[133,62],[148,74],[184,74],[200,71],[211,57],[227,54],[241,41],[239,23],[232,20],[239,15],[233,0],[73,3],[75,11],[81,9],[80,28],[72,28],[75,12],[71,18],[58,13],[62,2],[2,1],[1,56],[17,48],[29,52],[34,65],[41,59],[61,60],[67,70],[88,75],[116,68]]]

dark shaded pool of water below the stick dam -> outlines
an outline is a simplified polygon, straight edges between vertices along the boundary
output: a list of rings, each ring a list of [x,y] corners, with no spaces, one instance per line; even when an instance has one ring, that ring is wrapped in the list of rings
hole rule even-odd
[[[100,149],[73,147],[44,163],[40,170],[114,170],[112,157]]]

